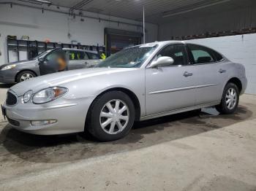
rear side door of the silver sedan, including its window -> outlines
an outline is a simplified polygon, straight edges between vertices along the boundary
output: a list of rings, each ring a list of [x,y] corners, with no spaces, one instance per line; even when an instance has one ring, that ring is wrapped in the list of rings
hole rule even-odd
[[[189,58],[195,70],[196,105],[216,102],[222,94],[221,55],[208,47],[187,44]]]

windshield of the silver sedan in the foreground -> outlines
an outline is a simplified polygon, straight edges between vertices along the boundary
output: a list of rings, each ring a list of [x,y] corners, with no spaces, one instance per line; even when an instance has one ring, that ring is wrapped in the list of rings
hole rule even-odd
[[[136,47],[129,47],[111,55],[95,67],[139,68],[156,47],[157,44],[143,44]]]

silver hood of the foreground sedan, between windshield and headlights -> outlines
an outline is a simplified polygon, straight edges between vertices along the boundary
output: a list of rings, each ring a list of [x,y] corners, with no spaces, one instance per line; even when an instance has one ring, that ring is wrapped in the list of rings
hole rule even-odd
[[[125,71],[132,71],[136,69],[115,69],[115,68],[91,68],[78,69],[72,71],[61,71],[54,74],[48,74],[34,79],[29,79],[12,86],[13,90],[18,96],[23,95],[28,90],[33,90],[36,93],[46,87],[65,86],[70,82],[80,79],[88,79],[91,77],[105,77],[106,74],[117,74]]]

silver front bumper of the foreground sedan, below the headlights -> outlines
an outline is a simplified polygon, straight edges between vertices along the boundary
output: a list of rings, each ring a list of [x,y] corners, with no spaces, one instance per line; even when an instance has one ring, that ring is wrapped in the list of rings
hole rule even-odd
[[[67,100],[59,98],[48,104],[4,104],[10,125],[20,131],[37,135],[56,135],[82,132],[85,127],[86,114],[92,98]],[[31,121],[56,120],[49,125],[31,125]],[[16,124],[18,125],[15,125]]]

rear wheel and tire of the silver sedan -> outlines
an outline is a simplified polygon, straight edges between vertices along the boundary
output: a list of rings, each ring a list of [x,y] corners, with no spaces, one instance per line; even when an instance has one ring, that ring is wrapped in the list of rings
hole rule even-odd
[[[221,114],[233,114],[239,103],[239,90],[233,83],[228,83],[222,94],[222,100],[219,105],[215,106]]]

